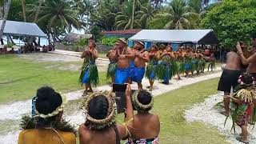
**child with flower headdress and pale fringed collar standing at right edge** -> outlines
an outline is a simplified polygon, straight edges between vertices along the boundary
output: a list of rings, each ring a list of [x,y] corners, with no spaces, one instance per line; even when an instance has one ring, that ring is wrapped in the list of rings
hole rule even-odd
[[[237,138],[238,141],[249,143],[248,136],[248,121],[254,109],[254,102],[256,97],[256,90],[254,90],[255,79],[251,74],[243,74],[238,78],[239,86],[235,89],[234,96],[225,96],[230,98],[234,105],[230,110],[232,120],[242,130],[242,138]]]

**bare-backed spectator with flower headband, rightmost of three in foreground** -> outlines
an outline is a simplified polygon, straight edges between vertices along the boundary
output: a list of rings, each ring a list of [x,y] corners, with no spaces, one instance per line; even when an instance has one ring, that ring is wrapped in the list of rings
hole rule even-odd
[[[134,125],[130,129],[128,144],[158,144],[160,122],[158,115],[150,114],[153,107],[153,96],[146,90],[138,90],[132,96],[132,102],[138,114],[134,115]]]

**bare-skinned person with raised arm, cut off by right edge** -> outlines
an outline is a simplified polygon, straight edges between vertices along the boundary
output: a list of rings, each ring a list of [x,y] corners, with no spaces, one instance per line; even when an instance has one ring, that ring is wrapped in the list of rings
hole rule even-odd
[[[254,78],[256,78],[256,38],[252,38],[250,48],[251,56],[249,58],[245,58],[240,46],[240,42],[237,43],[237,50],[242,60],[242,64],[248,65],[246,73],[252,74]]]

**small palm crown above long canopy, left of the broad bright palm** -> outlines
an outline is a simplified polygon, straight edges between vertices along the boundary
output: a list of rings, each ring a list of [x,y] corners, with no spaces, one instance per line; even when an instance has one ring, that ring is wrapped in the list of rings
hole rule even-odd
[[[138,12],[140,17],[140,22],[142,23],[142,29],[146,28],[146,22],[154,17],[154,14],[157,12],[157,9],[147,3],[146,6],[142,6],[141,11]]]

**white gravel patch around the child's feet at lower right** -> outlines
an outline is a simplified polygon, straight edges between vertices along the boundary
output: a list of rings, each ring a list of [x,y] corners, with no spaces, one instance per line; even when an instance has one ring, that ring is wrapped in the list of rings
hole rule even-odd
[[[226,136],[228,142],[234,144],[242,143],[235,139],[238,137],[238,134],[241,134],[241,129],[236,126],[236,134],[234,134],[234,130],[230,131],[232,120],[228,118],[226,126],[224,126],[226,116],[220,114],[219,110],[214,108],[216,103],[222,102],[222,95],[223,93],[210,95],[209,98],[205,99],[205,102],[194,104],[190,110],[186,110],[185,118],[188,122],[200,121],[216,126]],[[253,129],[253,126],[250,126],[249,129],[250,143],[256,143],[256,129]]]

